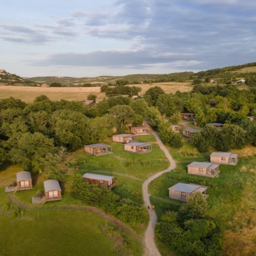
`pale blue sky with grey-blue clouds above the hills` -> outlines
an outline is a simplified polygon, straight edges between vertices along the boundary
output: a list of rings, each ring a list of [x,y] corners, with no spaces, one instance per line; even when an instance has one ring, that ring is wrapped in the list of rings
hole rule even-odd
[[[256,61],[255,0],[8,0],[0,69],[21,77],[200,71]]]

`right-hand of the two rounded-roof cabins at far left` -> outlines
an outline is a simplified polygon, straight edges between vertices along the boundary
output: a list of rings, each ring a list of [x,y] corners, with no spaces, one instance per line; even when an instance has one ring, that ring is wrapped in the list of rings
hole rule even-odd
[[[44,181],[44,197],[42,197],[41,202],[61,200],[61,188],[58,180],[46,180]]]

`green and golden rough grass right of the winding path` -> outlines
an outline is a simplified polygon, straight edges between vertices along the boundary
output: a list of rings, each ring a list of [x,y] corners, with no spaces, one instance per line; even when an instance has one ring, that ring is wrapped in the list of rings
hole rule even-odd
[[[245,148],[244,151],[246,150]],[[247,246],[249,251],[250,248],[254,250],[256,248],[255,236],[251,229],[255,230],[256,226],[256,156],[238,157],[236,166],[220,165],[221,172],[218,178],[187,173],[187,165],[191,162],[210,162],[209,156],[212,151],[206,154],[199,153],[189,143],[181,149],[171,149],[170,153],[173,158],[179,161],[177,169],[163,174],[149,184],[151,203],[155,204],[155,211],[160,218],[166,210],[177,211],[183,204],[183,202],[169,198],[167,190],[169,187],[178,182],[209,186],[210,188],[206,190],[206,194],[209,195],[207,198],[208,212],[210,218],[220,226],[225,234],[225,253],[236,251],[239,246],[240,249]],[[232,241],[234,237],[236,242]]]

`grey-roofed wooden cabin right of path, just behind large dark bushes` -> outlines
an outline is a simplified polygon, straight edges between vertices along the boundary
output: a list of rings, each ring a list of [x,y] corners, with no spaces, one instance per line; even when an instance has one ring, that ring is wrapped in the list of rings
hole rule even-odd
[[[206,199],[209,197],[209,195],[206,195],[206,189],[208,188],[209,187],[196,184],[177,183],[176,185],[170,187],[168,190],[170,198],[187,202],[188,197],[197,191],[204,193],[203,195]]]

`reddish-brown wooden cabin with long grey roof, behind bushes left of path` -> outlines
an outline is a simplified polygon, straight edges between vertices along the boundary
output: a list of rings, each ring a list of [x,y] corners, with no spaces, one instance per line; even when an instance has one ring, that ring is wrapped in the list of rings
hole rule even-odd
[[[112,189],[118,185],[114,176],[85,173],[83,178],[89,183],[98,184],[99,187],[106,187],[107,189]]]

